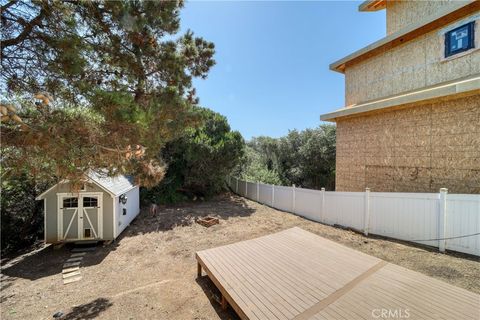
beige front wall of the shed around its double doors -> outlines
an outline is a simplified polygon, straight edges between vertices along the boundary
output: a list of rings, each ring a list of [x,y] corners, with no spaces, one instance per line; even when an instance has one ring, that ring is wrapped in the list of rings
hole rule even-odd
[[[55,188],[50,190],[43,201],[46,201],[46,232],[45,242],[57,242],[57,226],[58,226],[58,207],[57,207],[57,193],[73,192],[69,183],[60,183]],[[103,193],[103,239],[113,240],[113,201],[109,193],[99,188],[95,184],[86,184],[85,192],[102,192]]]

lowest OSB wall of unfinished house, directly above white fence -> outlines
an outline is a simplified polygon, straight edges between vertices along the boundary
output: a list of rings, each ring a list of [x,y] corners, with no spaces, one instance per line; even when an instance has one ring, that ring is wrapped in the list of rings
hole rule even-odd
[[[480,193],[480,94],[337,120],[338,191]]]

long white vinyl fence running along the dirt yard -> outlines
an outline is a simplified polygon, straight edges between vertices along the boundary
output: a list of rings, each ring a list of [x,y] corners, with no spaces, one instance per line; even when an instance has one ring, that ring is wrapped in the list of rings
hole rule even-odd
[[[248,199],[330,225],[480,256],[480,195],[337,192],[227,179]]]

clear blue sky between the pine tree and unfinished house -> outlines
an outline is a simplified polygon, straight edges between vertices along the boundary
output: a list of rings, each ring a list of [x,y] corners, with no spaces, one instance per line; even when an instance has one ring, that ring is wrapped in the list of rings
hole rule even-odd
[[[314,128],[344,106],[329,64],[385,36],[385,12],[359,1],[187,1],[182,31],[215,43],[216,65],[194,81],[200,104],[247,140]]]

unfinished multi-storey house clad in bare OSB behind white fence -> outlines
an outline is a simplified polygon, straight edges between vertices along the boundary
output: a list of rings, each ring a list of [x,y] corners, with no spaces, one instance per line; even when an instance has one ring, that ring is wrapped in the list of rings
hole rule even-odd
[[[480,193],[480,1],[368,0],[387,35],[330,65],[345,76],[336,190]]]

